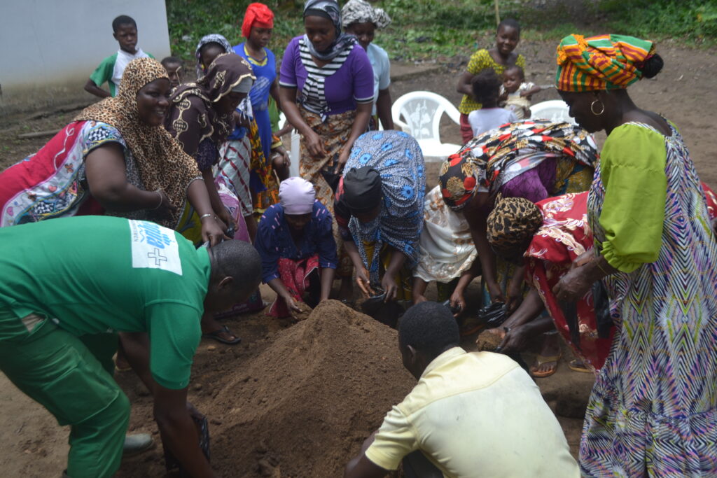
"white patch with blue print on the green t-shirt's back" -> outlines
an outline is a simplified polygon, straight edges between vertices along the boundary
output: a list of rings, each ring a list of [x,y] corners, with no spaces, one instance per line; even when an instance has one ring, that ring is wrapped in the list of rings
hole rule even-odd
[[[129,221],[132,267],[163,269],[181,275],[179,244],[174,231],[148,221]]]

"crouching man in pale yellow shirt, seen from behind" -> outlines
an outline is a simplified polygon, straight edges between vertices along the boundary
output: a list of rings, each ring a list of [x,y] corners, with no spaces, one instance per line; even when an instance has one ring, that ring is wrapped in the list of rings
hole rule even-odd
[[[579,477],[560,424],[530,376],[498,353],[467,353],[449,310],[411,307],[399,350],[417,385],[394,406],[346,478]]]

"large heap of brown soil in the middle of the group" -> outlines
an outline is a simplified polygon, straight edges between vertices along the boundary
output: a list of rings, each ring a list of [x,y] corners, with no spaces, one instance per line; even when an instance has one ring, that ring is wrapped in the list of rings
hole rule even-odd
[[[415,385],[401,364],[397,333],[335,300],[290,328],[277,327],[240,348],[200,346],[189,400],[209,419],[212,467],[224,477],[341,476]],[[151,398],[138,392],[135,378],[124,380],[132,381],[124,385],[132,423],[153,426]],[[118,477],[162,472],[160,446],[123,461]]]

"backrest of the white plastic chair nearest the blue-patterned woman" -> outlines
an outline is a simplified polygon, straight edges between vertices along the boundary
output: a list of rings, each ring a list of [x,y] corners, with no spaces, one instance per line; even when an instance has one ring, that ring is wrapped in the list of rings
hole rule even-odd
[[[394,123],[404,123],[407,133],[417,140],[440,140],[441,116],[446,113],[455,123],[460,123],[460,113],[441,95],[429,91],[406,93],[391,106]],[[403,120],[401,120],[403,118]]]

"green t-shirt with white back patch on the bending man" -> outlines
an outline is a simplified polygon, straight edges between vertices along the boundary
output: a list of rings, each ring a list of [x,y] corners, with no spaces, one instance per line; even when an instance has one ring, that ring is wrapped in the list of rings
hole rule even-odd
[[[147,332],[161,386],[184,388],[201,339],[209,254],[148,221],[53,219],[0,229],[0,347],[45,317],[73,335]]]

